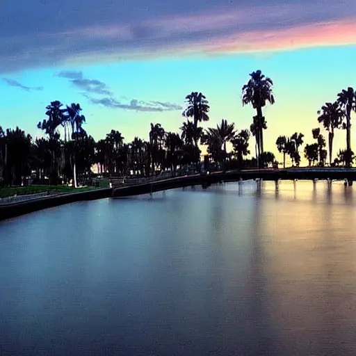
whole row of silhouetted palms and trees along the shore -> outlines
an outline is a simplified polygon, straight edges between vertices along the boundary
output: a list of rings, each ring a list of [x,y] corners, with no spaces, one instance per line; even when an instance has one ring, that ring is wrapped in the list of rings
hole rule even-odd
[[[196,170],[201,165],[200,145],[207,146],[205,163],[213,163],[220,169],[243,168],[246,166],[277,166],[275,155],[264,152],[264,130],[267,129],[264,107],[275,104],[273,81],[260,70],[252,72],[242,88],[243,105],[251,105],[256,111],[249,129],[238,131],[235,124],[221,120],[216,127],[204,130],[202,122],[209,121],[209,100],[201,92],[186,96],[184,122],[179,133],[165,131],[159,123],[151,123],[149,139],[135,137],[125,143],[120,131],[111,130],[106,138],[95,141],[84,129],[86,118],[79,104],[64,106],[59,101],[51,102],[46,108],[47,118],[38,122],[45,138],[32,138],[17,127],[0,127],[0,181],[2,185],[19,185],[24,177],[33,176],[35,181],[49,177],[51,184],[67,183],[72,180],[77,186],[77,177],[90,177],[93,164],[99,172],[111,176],[124,176],[128,172],[147,177],[160,170],[175,174],[178,167],[191,166]],[[354,153],[350,144],[351,113],[356,111],[356,92],[353,88],[342,90],[334,103],[327,102],[318,111],[318,123],[328,133],[328,161],[330,165],[345,164],[350,167]],[[332,160],[334,130],[346,130],[346,149],[341,149],[337,159]],[[61,137],[60,131],[64,131]],[[304,148],[309,165],[325,165],[327,160],[326,140],[318,127],[312,130],[314,143]],[[254,137],[255,156],[250,154],[250,138]],[[304,143],[302,133],[290,137],[279,136],[276,140],[278,152],[290,156],[293,165],[301,161],[300,149]],[[227,145],[232,149],[227,149]]]

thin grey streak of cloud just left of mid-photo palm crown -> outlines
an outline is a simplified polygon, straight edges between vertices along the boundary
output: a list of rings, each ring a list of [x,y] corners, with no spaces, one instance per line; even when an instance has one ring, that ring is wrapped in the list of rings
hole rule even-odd
[[[177,104],[168,102],[144,102],[142,100],[131,99],[129,103],[119,102],[113,97],[104,97],[102,99],[95,99],[90,95],[84,95],[92,104],[105,106],[106,108],[125,109],[132,111],[146,111],[146,112],[162,112],[162,111],[175,111],[182,110],[182,107]]]

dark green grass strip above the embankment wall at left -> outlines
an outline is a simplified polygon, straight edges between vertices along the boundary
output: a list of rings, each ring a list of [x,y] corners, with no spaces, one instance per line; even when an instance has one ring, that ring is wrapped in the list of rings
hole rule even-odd
[[[52,193],[78,193],[83,191],[92,191],[99,188],[107,188],[107,181],[99,181],[99,187],[83,187],[83,188],[72,188],[71,186],[23,186],[23,187],[9,187],[0,188],[0,198],[12,197],[13,195],[28,195],[28,194],[38,194],[44,192]]]

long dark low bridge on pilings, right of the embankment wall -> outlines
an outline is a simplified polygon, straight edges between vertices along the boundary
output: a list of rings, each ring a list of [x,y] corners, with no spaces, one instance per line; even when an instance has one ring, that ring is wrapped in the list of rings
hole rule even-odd
[[[266,181],[279,180],[343,180],[348,185],[352,185],[356,180],[355,168],[288,168],[288,169],[256,169],[256,170],[234,170],[227,172],[213,172],[211,174],[196,174],[184,177],[174,177],[168,179],[141,179],[122,184],[118,179],[111,179],[113,184],[112,197],[128,197],[131,195],[141,195],[166,191],[186,186],[202,185],[241,181],[251,179],[263,179]]]

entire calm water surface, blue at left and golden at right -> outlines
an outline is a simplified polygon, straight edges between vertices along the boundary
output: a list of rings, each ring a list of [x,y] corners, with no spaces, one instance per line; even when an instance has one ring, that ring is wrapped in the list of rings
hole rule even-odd
[[[0,223],[0,355],[356,355],[353,189],[244,182]]]

